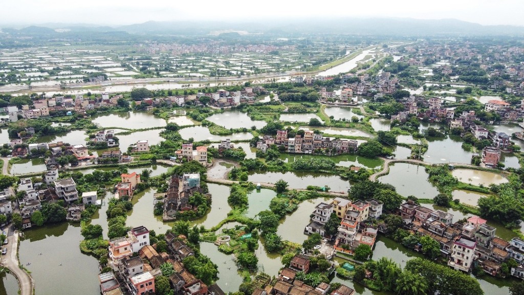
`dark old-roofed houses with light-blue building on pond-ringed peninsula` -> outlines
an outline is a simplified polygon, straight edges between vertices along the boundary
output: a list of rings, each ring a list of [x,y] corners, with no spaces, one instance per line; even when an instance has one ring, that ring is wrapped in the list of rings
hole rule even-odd
[[[181,177],[173,175],[164,194],[163,220],[172,221],[178,212],[197,210],[189,203],[190,196],[195,192],[202,192],[199,173],[184,173]]]

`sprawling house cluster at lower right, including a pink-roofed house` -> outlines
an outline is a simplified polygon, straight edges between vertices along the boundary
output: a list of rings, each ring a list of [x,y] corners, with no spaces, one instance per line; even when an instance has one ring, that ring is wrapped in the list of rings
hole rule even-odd
[[[501,263],[509,258],[520,266],[511,268],[511,275],[524,278],[524,241],[505,241],[495,235],[495,227],[486,220],[472,216],[466,222],[453,223],[453,214],[420,206],[413,201],[401,205],[405,227],[421,236],[429,236],[440,244],[441,254],[448,257],[447,265],[465,272],[481,266],[487,274],[496,276]],[[380,230],[380,225],[379,225]],[[420,250],[421,245],[415,249]]]

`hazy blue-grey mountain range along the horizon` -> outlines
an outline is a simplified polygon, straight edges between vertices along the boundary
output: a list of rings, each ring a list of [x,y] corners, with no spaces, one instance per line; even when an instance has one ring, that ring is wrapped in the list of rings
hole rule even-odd
[[[60,29],[56,31],[55,29]],[[126,26],[96,26],[90,24],[50,23],[21,29],[2,28],[10,34],[57,35],[63,32],[127,32],[137,35],[208,35],[212,31],[242,30],[254,34],[348,34],[378,36],[440,36],[440,35],[524,35],[524,27],[483,26],[457,19],[413,18],[332,18],[332,19],[268,19],[250,23],[228,21],[147,21]]]

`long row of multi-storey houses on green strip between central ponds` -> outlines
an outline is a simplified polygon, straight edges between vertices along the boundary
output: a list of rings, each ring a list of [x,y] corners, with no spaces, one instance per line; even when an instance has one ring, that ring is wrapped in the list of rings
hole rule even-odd
[[[284,146],[287,152],[297,154],[313,154],[321,150],[331,154],[348,154],[355,152],[358,141],[348,139],[332,139],[321,134],[314,134],[313,131],[305,130],[304,136],[296,135],[288,138],[287,130],[278,130],[275,138],[265,135],[262,140],[257,142],[257,149],[266,152],[271,145]]]

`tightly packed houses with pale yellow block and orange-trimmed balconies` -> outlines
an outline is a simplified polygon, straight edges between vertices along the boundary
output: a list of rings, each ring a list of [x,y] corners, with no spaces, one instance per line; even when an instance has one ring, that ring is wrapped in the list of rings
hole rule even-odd
[[[380,217],[382,205],[375,199],[352,202],[344,198],[334,198],[329,204],[322,202],[315,206],[311,222],[305,226],[304,233],[318,233],[325,238],[334,238],[334,250],[337,252],[352,253],[360,244],[373,248],[377,227],[368,225],[365,221],[368,218]],[[340,219],[336,236],[330,236],[325,232],[325,224],[330,220],[332,213]]]

